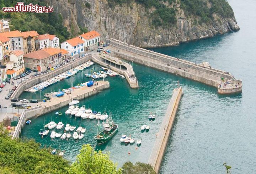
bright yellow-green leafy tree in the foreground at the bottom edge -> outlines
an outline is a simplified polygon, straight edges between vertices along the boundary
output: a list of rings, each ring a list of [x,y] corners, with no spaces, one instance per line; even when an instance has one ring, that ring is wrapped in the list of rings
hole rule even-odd
[[[82,145],[80,154],[76,158],[76,161],[68,169],[70,174],[122,173],[120,168],[116,169],[117,164],[110,160],[109,153],[96,152],[90,144]]]

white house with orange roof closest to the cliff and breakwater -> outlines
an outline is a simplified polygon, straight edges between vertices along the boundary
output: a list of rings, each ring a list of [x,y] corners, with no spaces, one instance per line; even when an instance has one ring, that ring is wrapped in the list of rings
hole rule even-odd
[[[85,41],[86,51],[100,46],[100,33],[94,30],[81,34],[79,37]]]

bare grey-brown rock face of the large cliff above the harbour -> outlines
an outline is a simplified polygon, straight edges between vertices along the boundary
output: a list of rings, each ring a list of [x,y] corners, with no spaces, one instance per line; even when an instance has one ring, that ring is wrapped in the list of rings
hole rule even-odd
[[[86,2],[90,3],[90,8],[85,6]],[[179,4],[176,4],[177,23],[171,28],[153,27],[149,13],[154,7],[146,9],[135,2],[128,6],[115,5],[113,9],[107,0],[48,0],[48,4],[62,14],[64,26],[74,34],[80,32],[81,26],[140,47],[178,45],[239,30],[234,16],[223,18],[215,13],[207,23],[194,23],[199,18],[186,16]]]

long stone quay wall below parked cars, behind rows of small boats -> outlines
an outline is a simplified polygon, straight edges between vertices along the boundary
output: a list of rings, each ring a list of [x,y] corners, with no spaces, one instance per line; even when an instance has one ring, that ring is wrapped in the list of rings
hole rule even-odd
[[[65,64],[62,67],[59,67],[53,71],[28,79],[25,82],[22,82],[20,85],[18,85],[17,89],[12,94],[11,99],[17,99],[24,90],[31,88],[32,86],[37,85],[39,83],[42,83],[50,78],[53,78],[61,73],[64,73],[65,71],[68,71],[76,66],[79,66],[80,64],[85,63],[89,60],[91,60],[91,56],[86,55],[84,57],[76,59],[73,62]]]

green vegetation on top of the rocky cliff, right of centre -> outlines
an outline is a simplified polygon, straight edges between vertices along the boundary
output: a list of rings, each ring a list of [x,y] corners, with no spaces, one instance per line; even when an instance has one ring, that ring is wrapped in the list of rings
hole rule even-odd
[[[138,3],[147,9],[152,8],[150,13],[152,25],[155,27],[174,27],[177,22],[177,9],[184,10],[186,16],[199,17],[199,24],[208,22],[213,13],[222,17],[232,17],[234,12],[226,0],[108,0],[108,5],[113,9],[115,5]]]

